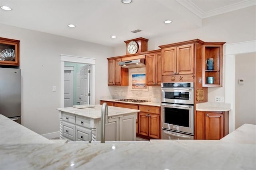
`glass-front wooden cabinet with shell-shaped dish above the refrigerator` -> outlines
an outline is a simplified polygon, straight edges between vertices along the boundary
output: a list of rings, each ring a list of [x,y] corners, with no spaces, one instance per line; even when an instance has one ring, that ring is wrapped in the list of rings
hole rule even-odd
[[[0,65],[20,65],[20,40],[0,37]]]

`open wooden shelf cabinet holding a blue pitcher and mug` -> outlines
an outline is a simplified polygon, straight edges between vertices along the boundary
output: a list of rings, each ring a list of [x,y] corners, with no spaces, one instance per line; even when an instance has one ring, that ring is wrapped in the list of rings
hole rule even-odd
[[[222,87],[222,61],[223,61],[223,44],[204,43],[202,58],[202,86],[203,87]],[[213,70],[207,69],[206,60],[213,59]],[[213,83],[207,82],[207,77],[213,77]]]

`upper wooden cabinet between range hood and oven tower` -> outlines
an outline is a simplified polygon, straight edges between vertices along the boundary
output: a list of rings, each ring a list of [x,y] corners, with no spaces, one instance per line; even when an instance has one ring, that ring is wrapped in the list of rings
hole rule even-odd
[[[146,55],[146,85],[161,85],[161,52]]]

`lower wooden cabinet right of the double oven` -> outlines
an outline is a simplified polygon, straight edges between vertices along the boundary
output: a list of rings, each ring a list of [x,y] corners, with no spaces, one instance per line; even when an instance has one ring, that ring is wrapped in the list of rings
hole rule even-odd
[[[228,111],[196,111],[196,139],[219,140],[228,135]]]

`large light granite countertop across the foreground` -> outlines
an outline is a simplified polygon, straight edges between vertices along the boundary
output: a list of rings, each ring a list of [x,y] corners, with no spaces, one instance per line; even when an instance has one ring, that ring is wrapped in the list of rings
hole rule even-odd
[[[2,119],[2,116],[0,117]],[[11,121],[10,119],[2,119]],[[14,122],[15,123],[15,122]],[[5,123],[9,129],[13,123]],[[19,125],[21,126],[21,125]],[[30,131],[27,129],[27,131]],[[1,131],[2,132],[2,131]],[[15,140],[14,134],[0,134]],[[26,133],[23,134],[26,139]],[[38,135],[38,139],[40,139]],[[150,143],[0,143],[0,169],[255,170],[256,125],[244,124],[221,140]]]

